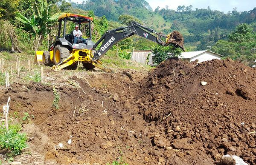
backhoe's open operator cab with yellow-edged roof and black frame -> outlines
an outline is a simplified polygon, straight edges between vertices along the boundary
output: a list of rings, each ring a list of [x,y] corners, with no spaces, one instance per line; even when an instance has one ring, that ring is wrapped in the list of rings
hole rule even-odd
[[[56,45],[61,44],[67,46],[71,49],[92,49],[95,44],[92,41],[91,34],[91,22],[93,21],[92,17],[87,17],[79,14],[70,14],[64,13],[58,17],[58,34],[56,40],[49,46],[49,51],[53,50]],[[79,30],[83,34],[85,42],[78,39],[77,43],[74,43],[73,30],[75,25],[79,25]],[[86,36],[86,37],[84,37]]]

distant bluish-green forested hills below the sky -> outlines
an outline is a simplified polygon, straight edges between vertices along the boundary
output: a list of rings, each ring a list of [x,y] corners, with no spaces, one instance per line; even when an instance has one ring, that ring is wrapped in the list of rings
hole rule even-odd
[[[166,34],[172,30],[180,31],[186,46],[193,50],[206,49],[218,40],[226,39],[228,34],[240,23],[252,24],[256,28],[256,7],[250,11],[233,9],[226,14],[221,11],[193,9],[193,6],[178,6],[177,10],[155,9],[145,0],[88,0],[81,4],[72,3],[73,7],[93,10],[97,16],[105,15],[109,20],[118,20],[121,14],[130,14],[143,23]],[[253,6],[252,6],[253,8]],[[198,42],[200,41],[200,42]]]

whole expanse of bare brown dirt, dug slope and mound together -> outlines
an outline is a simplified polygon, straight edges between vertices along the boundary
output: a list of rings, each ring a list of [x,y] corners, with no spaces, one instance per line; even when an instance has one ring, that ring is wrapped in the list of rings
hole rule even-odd
[[[256,164],[255,69],[195,64],[170,59],[148,74],[72,77],[80,88],[58,88],[59,109],[52,88],[39,83],[1,89],[0,101],[11,96],[10,112],[34,115],[26,132],[44,162],[213,165],[230,154]]]

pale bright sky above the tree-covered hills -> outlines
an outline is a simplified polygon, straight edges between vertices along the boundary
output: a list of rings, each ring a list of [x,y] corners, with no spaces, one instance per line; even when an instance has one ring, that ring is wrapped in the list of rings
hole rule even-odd
[[[72,0],[73,2],[81,3],[83,0]],[[160,8],[165,8],[166,5],[169,9],[176,10],[178,6],[193,6],[198,9],[207,9],[208,6],[212,10],[232,11],[233,8],[237,7],[237,11],[249,11],[256,7],[256,0],[145,0],[149,3],[151,8],[154,10],[159,6]]]

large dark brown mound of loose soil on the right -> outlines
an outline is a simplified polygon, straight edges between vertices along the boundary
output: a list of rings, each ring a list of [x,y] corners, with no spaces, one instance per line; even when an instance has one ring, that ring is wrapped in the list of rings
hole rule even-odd
[[[255,69],[232,60],[166,60],[140,85],[139,113],[165,128],[166,143],[187,153],[189,164],[193,152],[212,161],[234,154],[256,164],[255,78]]]

